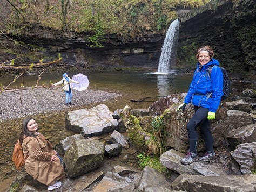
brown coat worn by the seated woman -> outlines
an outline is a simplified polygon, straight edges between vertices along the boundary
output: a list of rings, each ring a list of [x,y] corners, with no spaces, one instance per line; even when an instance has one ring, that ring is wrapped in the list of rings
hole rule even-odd
[[[36,138],[30,136],[24,138],[22,148],[24,157],[29,154],[25,161],[25,169],[33,179],[50,186],[65,176],[60,159],[51,162],[51,155],[56,153],[43,134],[37,133]]]

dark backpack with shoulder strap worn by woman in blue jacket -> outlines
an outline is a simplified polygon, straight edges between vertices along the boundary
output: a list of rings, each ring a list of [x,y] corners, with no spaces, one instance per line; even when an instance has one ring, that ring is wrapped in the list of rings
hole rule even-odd
[[[211,79],[212,68],[214,66],[218,66],[218,65],[212,65],[207,69],[208,77],[210,79]],[[222,100],[225,100],[230,94],[230,78],[228,77],[227,70],[224,67],[219,67],[219,68],[221,69],[221,72],[223,74],[223,96],[221,96],[221,101],[222,101]]]

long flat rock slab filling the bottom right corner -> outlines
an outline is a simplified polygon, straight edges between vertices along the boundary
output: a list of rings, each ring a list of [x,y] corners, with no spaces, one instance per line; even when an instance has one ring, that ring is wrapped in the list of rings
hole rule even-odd
[[[256,189],[256,175],[243,176],[199,176],[180,175],[172,182],[173,190],[185,191],[246,191],[253,192]]]

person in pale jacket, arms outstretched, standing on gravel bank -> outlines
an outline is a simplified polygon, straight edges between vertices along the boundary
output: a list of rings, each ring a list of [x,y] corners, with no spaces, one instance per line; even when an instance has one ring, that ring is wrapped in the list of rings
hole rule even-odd
[[[72,94],[72,84],[71,83],[78,84],[80,82],[70,79],[68,74],[64,73],[62,80],[60,80],[57,83],[52,84],[52,86],[59,86],[60,84],[63,84],[63,90],[66,95],[65,105],[72,105],[71,101],[72,101],[73,94]]]

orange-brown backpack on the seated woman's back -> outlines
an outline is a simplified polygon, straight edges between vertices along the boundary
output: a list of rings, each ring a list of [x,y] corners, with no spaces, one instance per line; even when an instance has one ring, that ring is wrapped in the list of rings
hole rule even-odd
[[[14,151],[12,152],[12,161],[14,162],[14,165],[17,170],[22,168],[22,166],[25,164],[26,158],[28,157],[29,155],[27,154],[24,158],[22,144],[18,140],[14,146]]]

